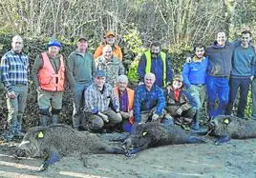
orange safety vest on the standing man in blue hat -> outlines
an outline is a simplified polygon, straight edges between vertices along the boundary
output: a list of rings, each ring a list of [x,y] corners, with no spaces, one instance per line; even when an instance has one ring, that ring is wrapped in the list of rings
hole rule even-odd
[[[43,68],[38,72],[38,81],[41,89],[49,91],[63,91],[65,81],[65,67],[63,56],[60,54],[60,67],[55,73],[46,52],[42,53]]]

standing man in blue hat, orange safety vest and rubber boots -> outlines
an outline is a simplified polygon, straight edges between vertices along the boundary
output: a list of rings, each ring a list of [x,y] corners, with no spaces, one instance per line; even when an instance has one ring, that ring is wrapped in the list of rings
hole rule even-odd
[[[32,66],[32,80],[37,89],[37,102],[40,109],[39,126],[58,123],[58,114],[62,109],[62,95],[65,82],[65,64],[59,53],[61,44],[53,39],[48,43],[48,51],[39,54]],[[51,113],[50,113],[51,108]]]

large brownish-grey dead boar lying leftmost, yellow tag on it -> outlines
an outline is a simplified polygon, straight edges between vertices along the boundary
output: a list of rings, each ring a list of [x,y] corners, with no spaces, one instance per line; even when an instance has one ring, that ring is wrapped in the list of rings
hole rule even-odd
[[[103,143],[95,133],[79,132],[60,124],[29,129],[19,148],[31,157],[47,157],[42,170],[65,155],[124,153],[122,148],[110,147]]]

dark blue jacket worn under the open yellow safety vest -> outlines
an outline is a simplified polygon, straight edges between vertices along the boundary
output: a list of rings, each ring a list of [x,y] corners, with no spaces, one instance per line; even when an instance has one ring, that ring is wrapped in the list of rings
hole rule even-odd
[[[139,80],[143,81],[145,76],[145,68],[146,68],[146,56],[143,54],[139,61],[139,67],[138,67],[138,73],[139,73]],[[155,84],[162,88],[163,81],[162,81],[162,60],[160,58],[160,55],[157,58],[151,59],[151,72],[156,75],[156,82]],[[168,57],[166,56],[166,83],[170,82],[172,79],[172,68],[171,64],[168,60]]]

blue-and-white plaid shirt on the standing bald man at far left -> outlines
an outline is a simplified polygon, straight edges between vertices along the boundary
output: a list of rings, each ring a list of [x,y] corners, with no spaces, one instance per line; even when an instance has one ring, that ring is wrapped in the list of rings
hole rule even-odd
[[[8,91],[11,86],[28,85],[29,58],[23,52],[15,53],[12,49],[1,60],[2,80]]]

